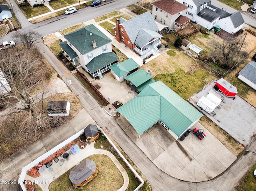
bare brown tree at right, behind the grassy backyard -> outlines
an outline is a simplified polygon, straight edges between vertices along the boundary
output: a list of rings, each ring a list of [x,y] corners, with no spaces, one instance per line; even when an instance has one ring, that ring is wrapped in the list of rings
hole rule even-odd
[[[218,65],[223,68],[231,68],[245,56],[244,52],[240,51],[243,44],[244,36],[226,37],[223,41],[212,40],[214,51],[210,53],[217,61]],[[245,45],[245,43],[244,43]]]

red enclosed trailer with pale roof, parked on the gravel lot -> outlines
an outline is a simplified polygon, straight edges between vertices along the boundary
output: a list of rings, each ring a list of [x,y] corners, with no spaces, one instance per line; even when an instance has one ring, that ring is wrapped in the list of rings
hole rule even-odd
[[[220,93],[224,94],[227,97],[235,97],[237,94],[237,89],[228,81],[224,80],[223,78],[219,79],[216,84],[214,85],[214,89],[219,91]]]

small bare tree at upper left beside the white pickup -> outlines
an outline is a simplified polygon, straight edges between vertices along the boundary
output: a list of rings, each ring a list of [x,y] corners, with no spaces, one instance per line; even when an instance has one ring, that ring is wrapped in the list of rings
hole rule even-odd
[[[35,31],[28,31],[28,32],[20,32],[16,31],[12,38],[16,41],[18,44],[24,44],[25,47],[30,48],[35,43],[40,42],[41,35],[38,32]]]

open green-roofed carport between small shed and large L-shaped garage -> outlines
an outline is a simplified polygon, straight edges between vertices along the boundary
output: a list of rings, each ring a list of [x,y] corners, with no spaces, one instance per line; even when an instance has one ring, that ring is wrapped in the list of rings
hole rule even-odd
[[[138,69],[124,79],[126,79],[126,84],[136,92],[141,92],[147,85],[156,82],[149,72],[142,69]]]

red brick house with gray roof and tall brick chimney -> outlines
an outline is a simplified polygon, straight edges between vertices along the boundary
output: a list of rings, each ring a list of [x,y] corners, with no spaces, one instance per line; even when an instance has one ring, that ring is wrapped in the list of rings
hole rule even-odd
[[[136,51],[142,58],[158,53],[157,46],[162,35],[150,12],[145,12],[130,20],[116,19],[114,37],[118,42]]]

